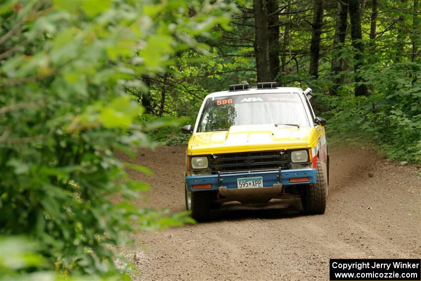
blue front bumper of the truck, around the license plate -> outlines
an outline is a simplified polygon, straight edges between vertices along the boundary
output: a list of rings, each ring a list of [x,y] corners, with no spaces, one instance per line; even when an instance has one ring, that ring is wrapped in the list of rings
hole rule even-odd
[[[290,169],[281,170],[281,183],[282,186],[316,183],[317,170],[316,169]],[[226,186],[228,189],[237,188],[237,178],[244,177],[263,177],[263,187],[271,187],[273,184],[279,182],[279,171],[255,171],[246,173],[227,173],[227,174],[208,174],[208,175],[195,175],[186,176],[186,184],[190,191],[206,191],[218,190],[219,186]],[[291,178],[308,177],[309,181],[291,183]],[[207,189],[193,189],[192,186],[196,184],[211,184],[211,188]]]

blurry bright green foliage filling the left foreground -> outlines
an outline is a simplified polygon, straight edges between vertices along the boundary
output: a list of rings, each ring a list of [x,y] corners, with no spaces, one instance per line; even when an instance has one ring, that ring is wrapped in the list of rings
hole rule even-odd
[[[148,186],[126,169],[149,170],[114,152],[134,155],[151,145],[145,131],[162,125],[139,125],[143,109],[126,94],[145,87],[135,77],[164,74],[175,52],[203,49],[195,36],[225,26],[230,6],[69,3],[0,7],[0,234],[28,236],[43,257],[22,267],[1,264],[9,279],[54,269],[61,277],[127,279],[113,246],[130,242],[133,231],[192,223],[186,213],[128,203]],[[113,204],[116,195],[122,199]]]

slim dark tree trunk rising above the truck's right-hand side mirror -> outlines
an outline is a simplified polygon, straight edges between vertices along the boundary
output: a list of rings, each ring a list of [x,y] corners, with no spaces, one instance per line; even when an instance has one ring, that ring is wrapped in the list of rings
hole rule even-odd
[[[314,1],[313,32],[310,44],[310,75],[317,79],[318,77],[318,59],[320,56],[320,35],[323,25],[323,0]]]

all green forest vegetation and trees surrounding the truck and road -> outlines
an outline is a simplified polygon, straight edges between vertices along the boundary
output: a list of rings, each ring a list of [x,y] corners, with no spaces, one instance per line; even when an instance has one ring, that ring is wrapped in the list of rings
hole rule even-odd
[[[129,280],[115,249],[130,233],[193,221],[135,208],[148,186],[127,169],[150,171],[114,152],[185,144],[179,128],[229,84],[311,87],[329,138],[421,164],[419,12],[419,0],[1,1],[0,279]]]

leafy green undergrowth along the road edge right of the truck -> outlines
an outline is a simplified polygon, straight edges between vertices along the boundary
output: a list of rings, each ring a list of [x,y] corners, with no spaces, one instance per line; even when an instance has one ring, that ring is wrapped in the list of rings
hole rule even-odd
[[[421,163],[421,64],[373,64],[363,69],[375,92],[368,97],[317,96],[336,137],[374,141],[389,159]]]

